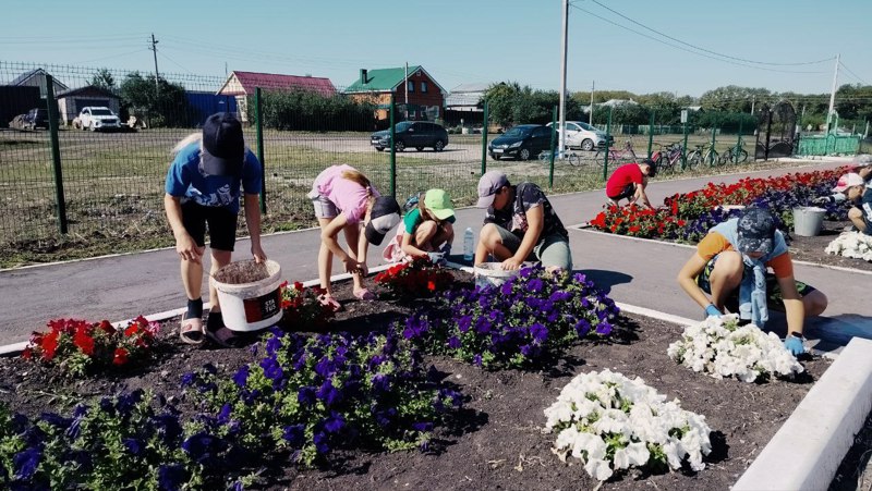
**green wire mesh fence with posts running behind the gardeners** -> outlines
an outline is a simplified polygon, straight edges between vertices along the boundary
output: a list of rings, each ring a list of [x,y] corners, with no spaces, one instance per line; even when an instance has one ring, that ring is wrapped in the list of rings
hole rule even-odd
[[[305,196],[315,176],[334,163],[354,165],[379,191],[400,200],[443,187],[456,206],[474,201],[477,177],[488,165],[506,171],[514,182],[570,192],[602,187],[609,169],[619,163],[594,152],[579,152],[576,160],[558,155],[556,160],[534,156],[530,161],[496,162],[486,155],[486,146],[498,135],[453,127],[444,151],[376,151],[371,133],[390,121],[377,114],[392,114],[396,123],[410,108],[354,99],[342,87],[328,94],[318,94],[324,87],[315,85],[279,89],[266,78],[255,81],[261,90],[232,85],[223,77],[0,61],[0,123],[11,126],[0,130],[5,201],[0,265],[15,263],[16,255],[38,260],[33,253],[58,247],[96,247],[99,254],[108,251],[100,250],[100,244],[109,250],[172,244],[162,208],[170,149],[197,132],[209,114],[225,110],[239,114],[246,144],[263,156],[265,232],[315,225]],[[110,108],[120,127],[93,131],[101,128],[80,116],[87,107]],[[38,112],[27,118],[32,109],[49,110],[49,127]],[[410,116],[434,116],[432,108],[412,109]],[[435,114],[436,121],[441,123],[441,116]],[[667,143],[687,143],[691,149],[694,144],[710,145],[717,133],[710,136],[691,128],[689,138],[661,135],[659,127],[626,133],[637,132],[644,135],[625,134],[616,140],[622,145],[634,138],[639,158]],[[555,142],[553,135],[552,148]],[[725,149],[736,142],[731,136],[717,145]],[[244,233],[243,220],[240,228]]]

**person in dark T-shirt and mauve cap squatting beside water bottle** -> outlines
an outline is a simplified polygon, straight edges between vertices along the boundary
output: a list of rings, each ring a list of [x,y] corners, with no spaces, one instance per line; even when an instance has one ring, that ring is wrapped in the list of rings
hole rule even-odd
[[[529,258],[548,271],[571,271],[569,233],[545,193],[533,183],[512,186],[500,171],[479,180],[477,208],[487,208],[475,248],[475,265],[493,255],[502,269],[514,270]]]

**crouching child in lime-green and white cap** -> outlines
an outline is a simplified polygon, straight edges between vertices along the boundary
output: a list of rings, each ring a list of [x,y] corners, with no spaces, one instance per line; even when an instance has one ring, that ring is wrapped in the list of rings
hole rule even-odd
[[[428,189],[417,206],[402,219],[397,235],[385,248],[384,258],[399,261],[405,258],[429,257],[443,262],[455,241],[455,206],[445,189]]]

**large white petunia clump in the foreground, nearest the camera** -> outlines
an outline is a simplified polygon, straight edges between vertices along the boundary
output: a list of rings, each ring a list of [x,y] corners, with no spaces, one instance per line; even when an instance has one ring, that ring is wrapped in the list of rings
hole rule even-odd
[[[687,456],[702,470],[712,452],[705,417],[683,410],[678,400],[609,370],[582,373],[545,409],[548,432],[557,432],[553,452],[581,459],[584,470],[605,481],[616,470],[659,463],[673,469]]]

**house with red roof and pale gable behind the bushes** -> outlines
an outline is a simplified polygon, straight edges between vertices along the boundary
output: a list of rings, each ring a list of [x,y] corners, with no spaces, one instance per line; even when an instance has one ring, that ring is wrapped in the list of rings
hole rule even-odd
[[[254,97],[255,88],[263,90],[310,90],[324,97],[336,95],[336,87],[329,78],[318,76],[280,75],[276,73],[230,72],[225,85],[218,89],[219,96],[237,98],[237,116],[242,122],[249,121],[249,96]]]

